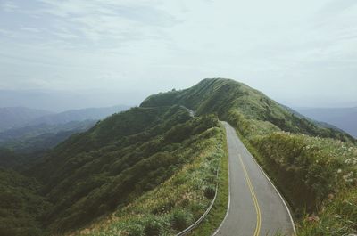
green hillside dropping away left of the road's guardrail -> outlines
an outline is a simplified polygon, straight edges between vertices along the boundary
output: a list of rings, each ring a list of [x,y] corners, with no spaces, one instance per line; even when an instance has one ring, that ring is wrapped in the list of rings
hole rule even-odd
[[[218,118],[193,118],[180,106],[114,114],[72,135],[21,175],[12,171],[29,183],[36,180],[35,187],[0,183],[3,189],[15,184],[12,195],[25,192],[37,200],[0,205],[0,212],[14,212],[0,221],[0,230],[8,224],[17,229],[21,220],[29,224],[25,226],[31,235],[62,234],[93,227],[101,217],[115,214],[125,220],[112,221],[106,231],[115,227],[129,235],[175,234],[210,204],[223,142]],[[41,212],[29,210],[36,204],[44,206]],[[18,212],[23,219],[17,218]]]

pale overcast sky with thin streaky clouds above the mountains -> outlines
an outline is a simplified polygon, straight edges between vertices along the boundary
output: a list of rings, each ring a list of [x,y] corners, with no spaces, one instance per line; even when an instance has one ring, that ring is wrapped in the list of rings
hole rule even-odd
[[[357,105],[357,1],[0,0],[0,89],[133,104],[205,77],[290,106]]]

